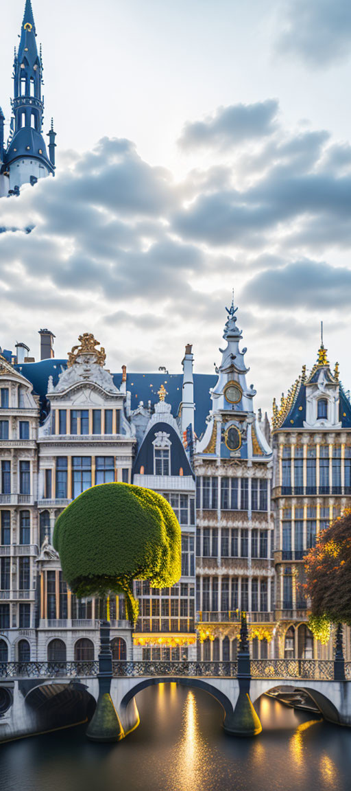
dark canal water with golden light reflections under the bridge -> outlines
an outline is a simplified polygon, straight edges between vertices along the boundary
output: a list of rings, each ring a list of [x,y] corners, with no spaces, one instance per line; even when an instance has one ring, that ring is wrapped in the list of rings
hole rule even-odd
[[[137,696],[141,723],[119,744],[85,725],[3,744],[1,791],[350,791],[351,729],[263,696],[263,732],[226,736],[221,706],[176,684]]]

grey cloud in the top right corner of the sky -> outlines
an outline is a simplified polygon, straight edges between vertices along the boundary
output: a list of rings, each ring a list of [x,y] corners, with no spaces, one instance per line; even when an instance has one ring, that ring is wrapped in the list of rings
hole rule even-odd
[[[283,0],[280,8],[283,29],[277,40],[277,49],[281,54],[297,55],[307,66],[317,68],[349,57],[349,0]],[[282,27],[281,14],[279,26]]]

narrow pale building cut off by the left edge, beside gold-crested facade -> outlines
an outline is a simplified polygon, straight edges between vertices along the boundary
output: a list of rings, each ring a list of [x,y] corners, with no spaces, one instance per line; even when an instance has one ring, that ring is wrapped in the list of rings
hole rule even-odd
[[[0,661],[26,660],[35,640],[39,399],[0,356]]]

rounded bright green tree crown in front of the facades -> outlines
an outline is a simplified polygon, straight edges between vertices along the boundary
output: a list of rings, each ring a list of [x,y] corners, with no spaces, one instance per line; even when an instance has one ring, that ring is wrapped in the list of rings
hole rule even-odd
[[[180,577],[179,522],[167,500],[142,486],[103,483],[85,490],[56,520],[53,543],[77,596],[123,592],[134,622],[134,579],[164,588]]]

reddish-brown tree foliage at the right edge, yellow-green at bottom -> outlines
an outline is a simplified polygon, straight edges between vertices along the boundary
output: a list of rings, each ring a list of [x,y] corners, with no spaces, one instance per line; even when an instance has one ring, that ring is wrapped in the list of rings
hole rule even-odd
[[[315,628],[326,635],[326,622],[351,625],[351,512],[320,533],[305,558],[306,585]],[[324,620],[323,620],[324,619]],[[313,628],[311,626],[311,630]]]

